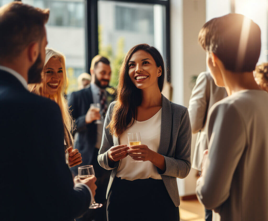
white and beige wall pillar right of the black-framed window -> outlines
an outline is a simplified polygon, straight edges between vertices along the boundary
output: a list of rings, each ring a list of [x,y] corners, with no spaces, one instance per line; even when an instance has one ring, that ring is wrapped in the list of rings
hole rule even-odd
[[[171,0],[170,2],[170,70],[173,102],[187,106],[192,91],[191,78],[206,70],[206,53],[197,38],[206,21],[205,0]],[[192,155],[196,136],[192,139]],[[196,170],[178,179],[180,196],[195,194]]]

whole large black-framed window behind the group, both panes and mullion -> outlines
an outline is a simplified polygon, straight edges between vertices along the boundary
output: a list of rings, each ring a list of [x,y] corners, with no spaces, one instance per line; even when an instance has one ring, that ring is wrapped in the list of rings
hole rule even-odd
[[[0,6],[12,0],[0,0]],[[67,93],[78,90],[77,77],[89,72],[92,57],[111,61],[111,86],[126,52],[147,43],[161,52],[169,69],[169,0],[22,0],[49,8],[48,47],[66,56]],[[142,2],[142,3],[141,3]]]

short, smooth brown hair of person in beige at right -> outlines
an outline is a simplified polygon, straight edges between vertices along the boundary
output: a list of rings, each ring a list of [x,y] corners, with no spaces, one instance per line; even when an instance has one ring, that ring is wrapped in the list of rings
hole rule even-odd
[[[246,30],[245,34],[241,34],[243,22],[248,24],[243,29]],[[241,39],[245,44],[241,44]],[[206,51],[213,52],[227,70],[233,72],[253,71],[260,56],[260,28],[241,14],[211,19],[200,30],[198,42]]]

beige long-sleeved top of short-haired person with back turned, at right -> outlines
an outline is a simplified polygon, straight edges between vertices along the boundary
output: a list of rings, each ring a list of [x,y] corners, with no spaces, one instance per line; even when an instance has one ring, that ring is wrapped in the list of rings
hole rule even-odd
[[[268,220],[268,94],[242,90],[209,111],[209,155],[196,194],[213,220]]]

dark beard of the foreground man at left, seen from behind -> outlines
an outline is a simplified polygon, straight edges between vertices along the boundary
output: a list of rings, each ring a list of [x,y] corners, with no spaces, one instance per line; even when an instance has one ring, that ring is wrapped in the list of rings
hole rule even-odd
[[[44,62],[41,60],[41,54],[38,55],[35,63],[28,71],[28,84],[41,83],[41,72],[43,71]]]

